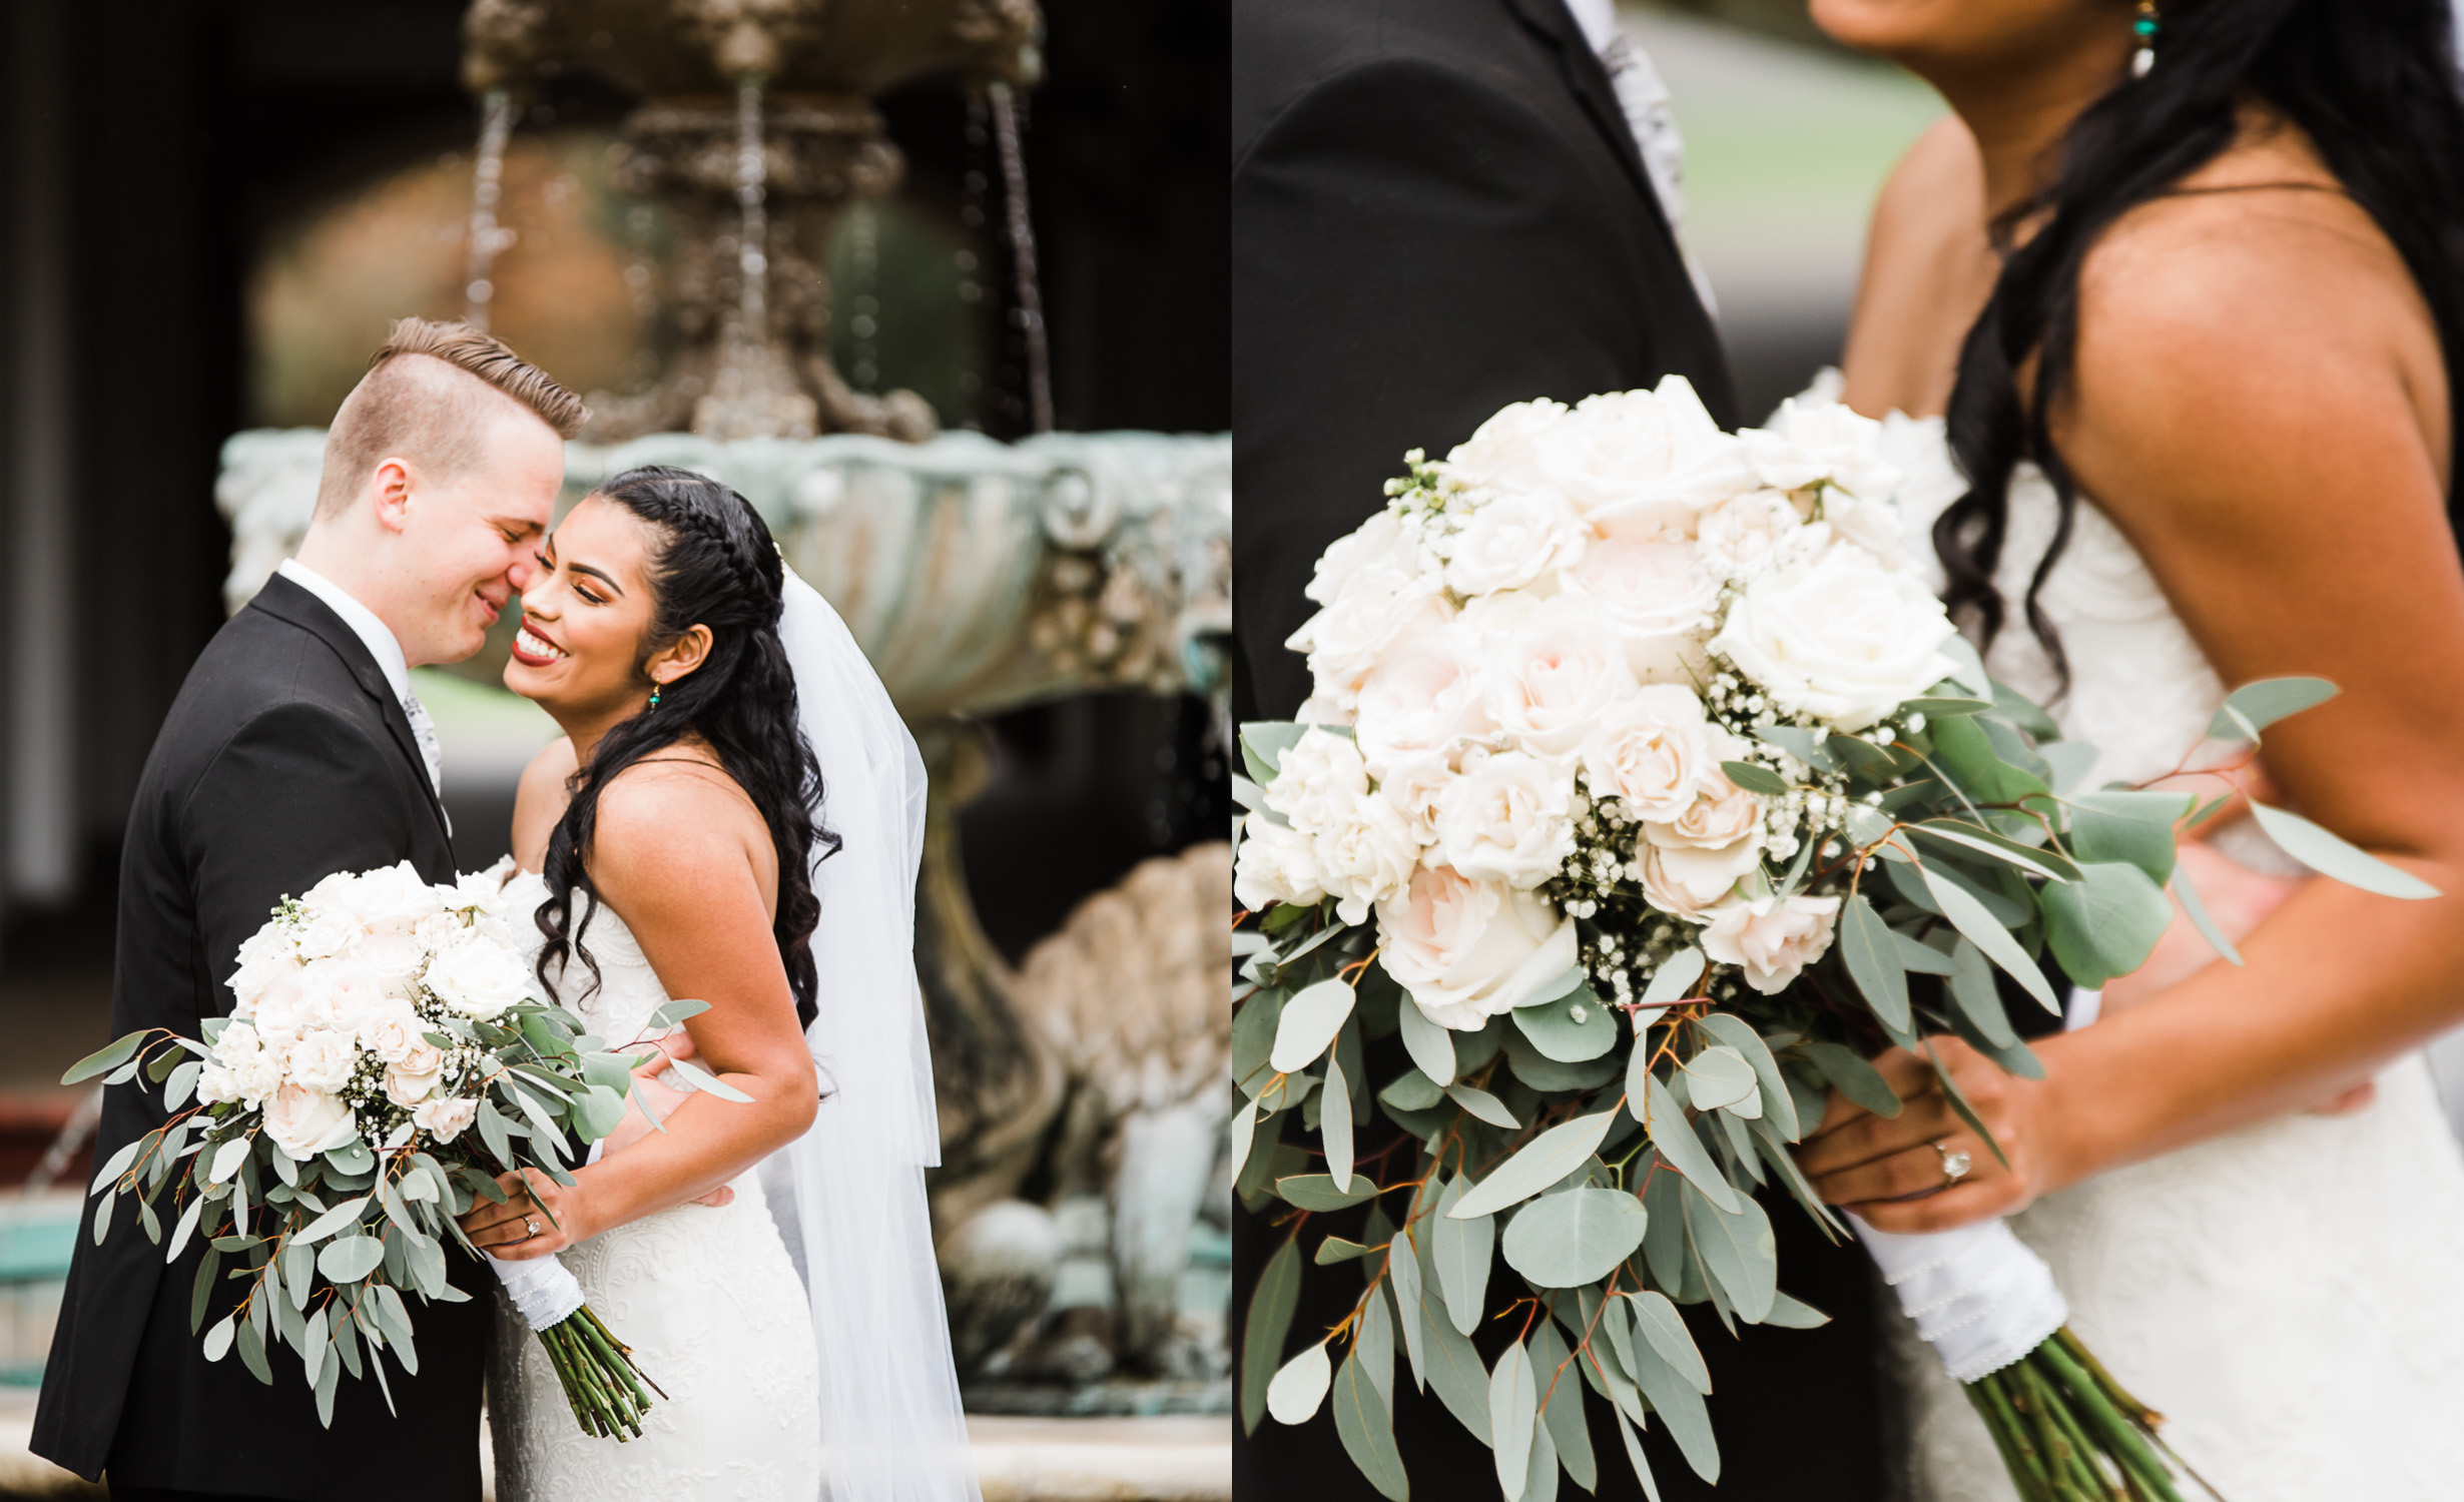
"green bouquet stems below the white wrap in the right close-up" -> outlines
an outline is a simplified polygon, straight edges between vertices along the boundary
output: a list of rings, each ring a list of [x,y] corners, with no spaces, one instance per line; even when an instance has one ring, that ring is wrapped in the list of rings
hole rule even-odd
[[[2025,1502],[2183,1502],[2158,1413],[2067,1325],[1966,1389]]]

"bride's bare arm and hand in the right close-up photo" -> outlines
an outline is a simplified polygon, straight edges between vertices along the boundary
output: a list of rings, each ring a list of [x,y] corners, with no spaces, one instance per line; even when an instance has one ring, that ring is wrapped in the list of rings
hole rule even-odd
[[[1942,1184],[1927,1143],[1964,1135],[1922,1066],[1897,1059],[1915,1096],[1900,1118],[1833,1103],[1801,1155],[1828,1199],[1887,1231],[2006,1214],[2314,1106],[2464,1019],[2464,569],[2444,510],[2444,369],[2388,244],[2348,202],[2301,199],[2237,217],[2176,199],[2099,246],[2057,436],[2225,682],[2343,687],[2267,731],[2284,800],[2447,896],[2309,882],[2240,946],[2247,965],[2205,965],[2038,1044],[2043,1081],[1949,1042],[2013,1167],[1976,1150],[1969,1182],[1880,1204]]]

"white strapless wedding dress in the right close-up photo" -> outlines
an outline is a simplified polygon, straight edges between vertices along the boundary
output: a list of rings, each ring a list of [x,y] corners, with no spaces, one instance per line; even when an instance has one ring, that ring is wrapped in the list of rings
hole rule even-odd
[[[1939,586],[1932,524],[1964,490],[1942,421],[1892,416],[1885,456],[1910,470],[1905,544]],[[2053,488],[2023,468],[1998,571],[2013,616],[2053,527]],[[2023,620],[1986,655],[1993,677],[2102,749],[2087,785],[2173,768],[2223,685],[2094,505],[2080,502],[2040,601],[2070,653],[2067,697]],[[2247,822],[2215,845],[2284,867]],[[2282,1115],[2119,1167],[2011,1226],[2053,1263],[2080,1337],[2230,1502],[2464,1497],[2464,1162],[2420,1054],[2351,1115]],[[1897,1307],[1885,1327],[1910,1502],[2016,1497],[1942,1362]]]

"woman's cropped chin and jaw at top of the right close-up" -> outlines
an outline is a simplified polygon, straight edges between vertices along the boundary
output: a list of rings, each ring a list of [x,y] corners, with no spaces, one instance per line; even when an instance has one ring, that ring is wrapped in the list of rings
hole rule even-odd
[[[1843,47],[1944,84],[2011,79],[2082,54],[2126,57],[2131,0],[1814,0],[1814,25]]]

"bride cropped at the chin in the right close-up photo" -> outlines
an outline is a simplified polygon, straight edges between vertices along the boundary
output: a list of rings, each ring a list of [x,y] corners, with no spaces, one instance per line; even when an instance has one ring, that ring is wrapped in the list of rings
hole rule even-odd
[[[2247,965],[2168,941],[2102,1014],[2080,997],[2043,1081],[1942,1042],[2011,1167],[1905,1056],[1885,1061],[1905,1110],[1833,1101],[1801,1162],[1885,1231],[2016,1211],[2075,1327],[2225,1497],[2452,1497],[2464,1167],[2417,1054],[2464,1019],[2447,7],[1814,17],[1956,111],[1882,195],[1843,396],[1915,414],[1890,419],[1897,458],[1942,483],[1905,505],[1912,552],[1939,554],[1993,675],[2104,751],[2097,783],[2173,768],[2223,685],[2333,680],[2267,731],[2264,776],[2449,896],[2296,882],[2227,825],[2183,859]],[[1951,1177],[1959,1150],[1974,1170]],[[1900,1347],[1910,1490],[2008,1497],[1969,1404]]]

